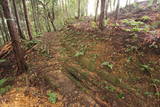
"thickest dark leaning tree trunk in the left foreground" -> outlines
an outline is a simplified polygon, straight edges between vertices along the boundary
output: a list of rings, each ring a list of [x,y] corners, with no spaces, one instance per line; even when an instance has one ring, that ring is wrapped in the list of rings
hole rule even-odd
[[[17,65],[18,65],[17,74],[21,74],[27,70],[27,67],[26,67],[26,63],[24,60],[24,54],[22,53],[22,50],[20,48],[18,31],[16,29],[14,20],[11,20],[13,19],[13,17],[11,16],[11,12],[10,12],[8,4],[9,4],[8,0],[2,1],[2,7],[3,7],[5,18],[10,19],[10,20],[7,20],[7,25],[8,25],[8,30],[10,33],[12,45],[13,45],[13,51],[15,53],[15,58],[16,58]]]

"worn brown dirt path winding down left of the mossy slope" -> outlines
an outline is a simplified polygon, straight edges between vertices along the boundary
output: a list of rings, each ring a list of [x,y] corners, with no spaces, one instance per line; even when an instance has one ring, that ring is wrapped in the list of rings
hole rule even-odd
[[[89,95],[82,92],[73,81],[71,81],[64,72],[62,72],[62,64],[60,59],[60,43],[61,36],[58,33],[46,33],[42,38],[41,48],[45,48],[45,52],[49,58],[32,56],[33,58],[33,72],[40,72],[50,85],[58,90],[63,96],[60,102],[63,102],[64,107],[99,107],[101,105],[107,106],[107,103],[98,101]],[[49,49],[49,50],[48,50]]]

